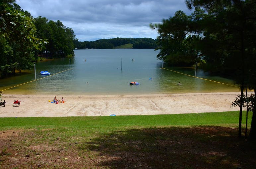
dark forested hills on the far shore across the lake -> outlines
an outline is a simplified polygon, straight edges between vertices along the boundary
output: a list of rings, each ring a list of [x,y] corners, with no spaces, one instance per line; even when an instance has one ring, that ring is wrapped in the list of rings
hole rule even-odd
[[[113,49],[120,45],[132,44],[134,49],[156,49],[157,43],[152,38],[112,38],[99,39],[96,41],[80,42],[78,39],[74,41],[75,49]]]

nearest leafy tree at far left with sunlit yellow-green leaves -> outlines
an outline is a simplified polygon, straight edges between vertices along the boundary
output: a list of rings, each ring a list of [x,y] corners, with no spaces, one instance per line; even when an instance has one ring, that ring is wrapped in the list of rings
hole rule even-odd
[[[15,69],[24,70],[32,67],[33,52],[39,49],[41,41],[35,36],[33,19],[24,12],[14,1],[0,2],[0,76],[7,75]]]

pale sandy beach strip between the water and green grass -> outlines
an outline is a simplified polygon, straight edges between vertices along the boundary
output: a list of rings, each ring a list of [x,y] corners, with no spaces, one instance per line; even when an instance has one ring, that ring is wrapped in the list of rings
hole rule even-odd
[[[230,107],[238,92],[157,95],[63,95],[64,103],[51,103],[54,95],[3,95],[0,117],[109,116],[221,112]],[[14,100],[21,101],[13,106]]]

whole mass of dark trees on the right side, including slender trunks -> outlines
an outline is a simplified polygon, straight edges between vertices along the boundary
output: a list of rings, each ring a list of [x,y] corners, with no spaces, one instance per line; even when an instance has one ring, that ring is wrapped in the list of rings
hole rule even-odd
[[[172,65],[200,63],[208,72],[233,78],[241,89],[233,103],[240,107],[238,136],[245,107],[253,112],[250,138],[256,139],[255,0],[186,0],[186,4],[194,9],[190,16],[177,11],[162,23],[150,24],[159,33],[157,58]],[[247,96],[247,88],[254,94]]]

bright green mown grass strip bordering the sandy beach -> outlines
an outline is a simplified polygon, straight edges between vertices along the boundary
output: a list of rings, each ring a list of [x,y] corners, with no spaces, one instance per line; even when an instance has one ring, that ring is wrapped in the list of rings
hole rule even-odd
[[[249,113],[251,119],[252,113]],[[0,129],[6,128],[30,128],[30,127],[55,127],[76,126],[104,129],[126,129],[137,127],[165,127],[165,126],[238,126],[239,112],[215,112],[215,113],[188,113],[167,115],[129,115],[129,116],[96,116],[96,117],[7,117],[0,118]],[[250,124],[250,120],[248,123]],[[243,113],[245,124],[245,112]]]

